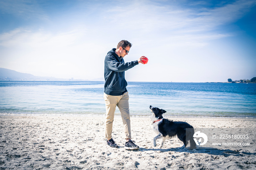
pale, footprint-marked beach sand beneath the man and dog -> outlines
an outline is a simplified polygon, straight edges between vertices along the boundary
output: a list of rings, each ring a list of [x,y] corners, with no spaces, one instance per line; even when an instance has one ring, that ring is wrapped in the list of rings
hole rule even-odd
[[[175,118],[195,128],[255,128],[251,118]],[[149,116],[132,116],[132,140],[140,150],[124,149],[123,125],[116,116],[113,139],[105,140],[105,117],[0,116],[0,169],[256,169],[255,144],[235,150],[189,150],[177,137],[162,148]],[[254,140],[255,141],[255,140]],[[159,141],[158,141],[159,144]]]

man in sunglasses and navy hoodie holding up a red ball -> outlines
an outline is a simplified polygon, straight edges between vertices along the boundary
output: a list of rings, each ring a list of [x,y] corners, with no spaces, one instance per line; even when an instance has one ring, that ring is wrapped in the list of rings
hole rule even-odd
[[[105,57],[104,68],[104,100],[106,105],[106,139],[110,147],[118,148],[112,139],[112,127],[116,106],[121,112],[125,134],[125,149],[139,149],[139,146],[131,140],[131,121],[129,113],[129,95],[126,89],[127,81],[124,72],[132,67],[146,61],[146,57],[140,57],[136,61],[124,62],[124,57],[129,53],[132,44],[127,40],[121,40],[116,49],[112,49]]]

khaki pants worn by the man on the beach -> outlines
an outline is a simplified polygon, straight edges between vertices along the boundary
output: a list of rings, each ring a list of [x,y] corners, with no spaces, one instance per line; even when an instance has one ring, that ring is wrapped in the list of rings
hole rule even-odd
[[[129,113],[129,95],[125,92],[121,96],[111,96],[104,93],[104,100],[106,105],[106,138],[112,138],[112,127],[114,121],[114,113],[116,106],[121,112],[121,117],[124,125],[125,139],[131,138],[131,120]]]

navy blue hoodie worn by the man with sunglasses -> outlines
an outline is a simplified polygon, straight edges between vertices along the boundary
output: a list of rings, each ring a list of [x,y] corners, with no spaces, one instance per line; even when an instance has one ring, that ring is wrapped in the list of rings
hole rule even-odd
[[[131,69],[139,64],[139,62],[124,62],[123,57],[119,57],[115,53],[116,49],[112,49],[105,57],[104,68],[104,93],[112,96],[120,96],[127,92],[127,81],[124,77],[124,71]]]

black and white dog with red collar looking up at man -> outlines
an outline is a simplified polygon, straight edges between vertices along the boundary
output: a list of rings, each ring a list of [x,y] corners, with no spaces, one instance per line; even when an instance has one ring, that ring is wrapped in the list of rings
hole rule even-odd
[[[188,140],[190,142],[190,149],[196,148],[196,143],[193,140],[194,128],[184,122],[184,121],[170,121],[168,119],[164,119],[162,114],[166,113],[165,110],[159,109],[153,106],[149,107],[152,115],[151,120],[153,121],[153,130],[158,135],[154,138],[154,146],[157,146],[156,140],[161,139],[161,144],[159,148],[163,146],[163,143],[166,139],[172,138],[177,135],[178,139],[180,139],[184,145],[181,148],[184,148],[188,144]],[[186,140],[186,128],[187,129],[187,140]]]

